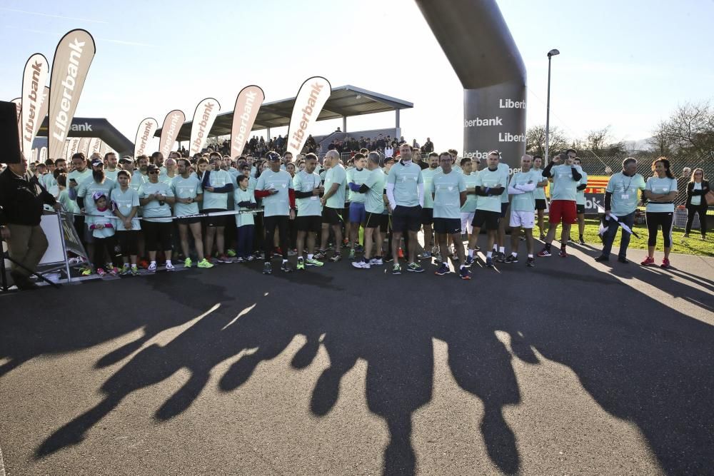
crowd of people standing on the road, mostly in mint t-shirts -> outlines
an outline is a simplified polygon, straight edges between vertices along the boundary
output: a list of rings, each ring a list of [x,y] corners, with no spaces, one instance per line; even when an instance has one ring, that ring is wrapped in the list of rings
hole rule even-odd
[[[391,263],[393,275],[422,273],[424,258],[434,258],[436,275],[446,275],[451,258],[458,277],[468,280],[482,229],[486,268],[518,263],[521,240],[526,242],[526,266],[535,266],[536,257],[554,253],[558,226],[561,258],[568,257],[571,226],[578,225],[578,241],[584,243],[588,176],[575,150],[560,153],[546,166],[540,156],[523,156],[512,176],[498,151],[488,153],[485,163],[458,158],[453,149],[424,156],[422,151],[408,143],[401,143],[393,155],[361,148],[347,161],[338,148],[328,151],[323,161],[314,153],[293,158],[276,151],[264,158],[231,158],[211,149],[193,158],[182,151],[168,158],[159,152],[136,158],[94,154],[89,159],[75,153],[69,162],[49,159],[38,164],[34,173],[26,164],[11,164],[0,173],[0,228],[11,243],[11,254],[34,269],[41,254],[36,256],[35,249],[28,257],[32,245],[20,241],[39,239],[33,233],[39,228],[42,203],[62,208],[73,214],[90,258],[81,273],[100,276],[137,275],[141,267],[153,273],[159,263],[172,271],[174,258],[185,268],[205,269],[216,263],[263,260],[263,273],[271,274],[273,258],[279,258],[281,271],[291,272],[291,255],[296,256],[296,270],[336,263],[346,255],[358,269]],[[620,225],[631,228],[635,210],[645,201],[649,248],[641,264],[655,264],[655,245],[662,233],[661,266],[667,268],[677,181],[664,157],[652,163],[653,176],[646,181],[636,170],[635,158],[626,158],[622,171],[610,177],[603,250],[596,260],[609,260]],[[698,213],[704,237],[710,187],[702,169],[693,171],[687,188],[687,232]],[[15,216],[11,203],[30,196],[39,203],[39,212]],[[536,227],[544,243],[538,253]],[[628,263],[629,240],[630,233],[623,231],[620,263]],[[31,287],[24,270],[13,272],[17,283]]]

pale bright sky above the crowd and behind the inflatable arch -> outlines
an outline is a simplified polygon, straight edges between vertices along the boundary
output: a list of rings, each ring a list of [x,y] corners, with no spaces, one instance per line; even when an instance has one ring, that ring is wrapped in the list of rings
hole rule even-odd
[[[545,123],[553,48],[550,123],[570,139],[610,126],[615,140],[641,140],[678,104],[714,96],[714,0],[497,3],[526,64],[528,127]],[[251,83],[276,101],[324,76],[411,101],[401,112],[408,141],[429,136],[437,149],[463,150],[463,88],[413,0],[0,0],[0,25],[5,101],[20,96],[31,54],[52,61],[67,31],[88,30],[96,56],[76,116],[107,118],[132,142],[145,117],[161,125],[178,108],[190,120],[209,96],[230,111]],[[393,113],[347,123],[393,125]],[[321,121],[309,132],[338,126]]]

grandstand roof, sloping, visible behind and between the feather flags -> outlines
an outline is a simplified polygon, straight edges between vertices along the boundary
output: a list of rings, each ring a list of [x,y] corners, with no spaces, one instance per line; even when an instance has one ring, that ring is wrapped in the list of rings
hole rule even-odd
[[[269,127],[283,127],[290,124],[290,116],[293,113],[295,98],[263,103],[258,111],[256,123],[253,124],[253,131],[266,129]],[[362,114],[373,114],[378,112],[395,111],[397,109],[413,108],[414,104],[401,99],[392,98],[381,93],[367,91],[355,86],[340,86],[333,88],[330,98],[323,107],[318,121],[326,119],[336,119],[341,117],[361,116]],[[216,122],[213,123],[209,136],[229,136],[231,125],[233,124],[233,111],[218,114]],[[161,136],[159,128],[155,134]],[[178,131],[177,141],[191,140],[191,121],[183,123]]]

